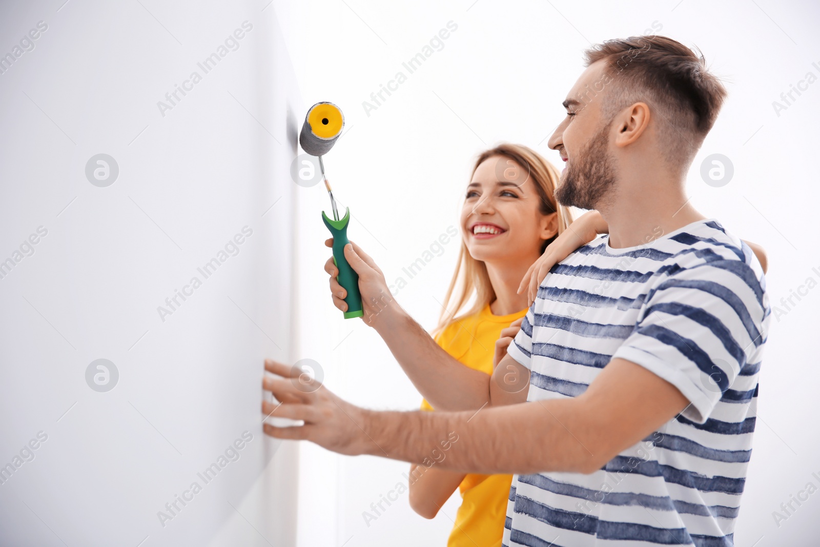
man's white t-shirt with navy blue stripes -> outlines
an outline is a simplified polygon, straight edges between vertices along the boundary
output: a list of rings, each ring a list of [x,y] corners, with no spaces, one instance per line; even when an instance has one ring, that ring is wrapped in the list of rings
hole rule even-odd
[[[508,354],[531,371],[528,401],[575,397],[623,358],[690,405],[599,471],[513,476],[503,545],[733,545],[771,313],[763,270],[715,220],[656,231],[631,248],[604,235],[553,267]]]

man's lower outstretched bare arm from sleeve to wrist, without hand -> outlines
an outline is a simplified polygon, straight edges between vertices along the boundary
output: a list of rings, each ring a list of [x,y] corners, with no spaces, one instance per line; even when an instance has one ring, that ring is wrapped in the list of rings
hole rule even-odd
[[[660,376],[615,359],[574,399],[532,401],[478,413],[370,413],[364,428],[373,440],[367,454],[384,450],[395,459],[429,453],[454,431],[458,441],[438,464],[442,469],[590,473],[688,404]],[[374,449],[374,443],[380,448]]]

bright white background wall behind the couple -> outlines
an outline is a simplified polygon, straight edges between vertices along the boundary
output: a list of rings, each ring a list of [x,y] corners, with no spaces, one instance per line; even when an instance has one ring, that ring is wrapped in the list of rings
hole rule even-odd
[[[813,2],[309,2],[312,34],[300,75],[305,103],[329,100],[350,133],[326,157],[335,194],[355,218],[349,235],[389,280],[456,224],[476,153],[499,140],[530,145],[558,163],[546,146],[563,116],[560,103],[582,71],[581,51],[604,39],[643,34],[660,25],[701,48],[727,81],[730,98],[690,172],[692,203],[727,229],[768,250],[772,305],[809,276],[820,280],[813,221],[820,199],[818,93],[808,90],[780,116],[772,101],[811,71],[820,76]],[[421,51],[448,21],[458,30],[421,68],[402,62]],[[651,32],[651,30],[650,30]],[[589,40],[589,41],[588,41]],[[817,62],[818,66],[813,66]],[[397,71],[408,79],[368,116],[362,107]],[[731,159],[735,174],[715,188],[700,178],[712,153]],[[420,395],[384,344],[362,321],[332,308],[322,264],[329,209],[321,186],[299,189],[298,302],[303,332],[297,358],[324,367],[326,384],[371,408],[416,408]],[[399,291],[397,299],[432,327],[453,271],[457,244]],[[815,545],[820,494],[780,526],[772,512],[820,475],[814,396],[820,374],[816,338],[820,289],[772,320],[760,380],[758,426],[736,545]],[[784,308],[785,309],[785,308]],[[319,342],[317,343],[317,340]],[[455,501],[432,522],[407,495],[367,526],[362,512],[394,488],[408,467],[380,458],[348,458],[302,448],[299,545],[444,545]],[[794,505],[796,508],[796,505]],[[307,513],[307,514],[306,514]],[[321,522],[323,526],[316,526]],[[814,536],[810,532],[814,531]],[[761,540],[761,537],[763,539]],[[756,541],[759,542],[755,544]]]

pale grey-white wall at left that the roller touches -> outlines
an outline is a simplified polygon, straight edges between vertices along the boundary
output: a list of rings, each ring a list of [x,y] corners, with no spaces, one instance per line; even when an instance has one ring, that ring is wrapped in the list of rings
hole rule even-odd
[[[259,412],[262,359],[291,360],[296,330],[288,173],[304,106],[276,7],[3,2],[0,54],[39,21],[0,75],[0,261],[48,230],[0,279],[0,465],[47,440],[0,485],[0,544],[293,545],[297,446],[262,435]],[[206,74],[198,62],[244,21]],[[106,187],[85,174],[98,153],[119,168]],[[99,358],[119,373],[104,393],[85,379]],[[197,473],[244,431],[206,484]]]

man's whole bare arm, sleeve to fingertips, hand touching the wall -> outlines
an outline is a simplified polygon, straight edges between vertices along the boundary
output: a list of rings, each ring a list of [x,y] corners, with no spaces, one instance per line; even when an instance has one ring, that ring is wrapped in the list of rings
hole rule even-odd
[[[268,364],[282,376],[289,367]],[[341,454],[406,462],[436,459],[441,469],[478,473],[582,472],[603,467],[689,404],[672,384],[624,359],[609,362],[585,393],[458,413],[375,412],[339,399],[323,386],[305,394],[288,380],[265,381],[279,400],[262,412],[305,420],[300,427],[264,426],[280,439],[305,439]],[[537,433],[537,434],[534,434]],[[446,446],[446,449],[445,449]]]

